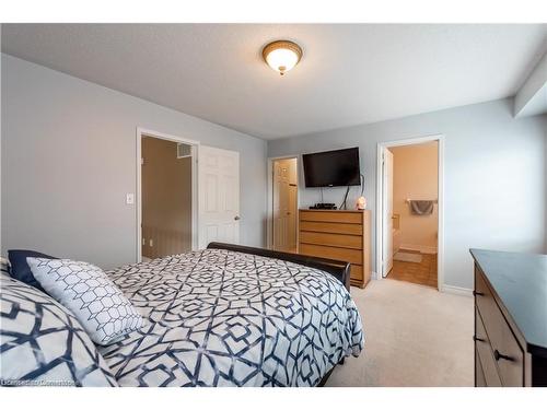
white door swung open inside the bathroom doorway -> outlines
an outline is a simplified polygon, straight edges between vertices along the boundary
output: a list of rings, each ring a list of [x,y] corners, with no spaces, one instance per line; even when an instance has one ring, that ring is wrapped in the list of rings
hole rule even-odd
[[[385,278],[393,268],[393,153],[387,149],[384,150],[383,164],[382,276]]]

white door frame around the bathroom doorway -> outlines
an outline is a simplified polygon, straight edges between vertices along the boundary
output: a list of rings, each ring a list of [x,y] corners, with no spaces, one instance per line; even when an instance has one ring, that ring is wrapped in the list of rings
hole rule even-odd
[[[432,134],[407,138],[377,143],[376,150],[376,279],[382,280],[383,253],[383,153],[393,147],[416,145],[424,142],[438,142],[438,244],[437,244],[437,284],[440,292],[444,290],[444,134]]]

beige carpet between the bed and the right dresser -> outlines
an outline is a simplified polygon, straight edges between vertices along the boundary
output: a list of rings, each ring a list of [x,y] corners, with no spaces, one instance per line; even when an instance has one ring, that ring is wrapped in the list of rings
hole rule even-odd
[[[327,386],[473,386],[473,297],[397,280],[351,288],[364,351]]]

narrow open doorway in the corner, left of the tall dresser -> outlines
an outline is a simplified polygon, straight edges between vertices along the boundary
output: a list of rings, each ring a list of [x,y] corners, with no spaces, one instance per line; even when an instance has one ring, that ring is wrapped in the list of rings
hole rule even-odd
[[[271,162],[271,248],[298,251],[298,159]]]

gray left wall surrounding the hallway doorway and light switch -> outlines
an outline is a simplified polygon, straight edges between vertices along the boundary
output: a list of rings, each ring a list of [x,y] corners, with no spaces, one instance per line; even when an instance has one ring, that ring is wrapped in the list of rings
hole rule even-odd
[[[238,151],[241,241],[264,245],[265,141],[7,55],[1,92],[3,255],[133,262],[137,127]]]

